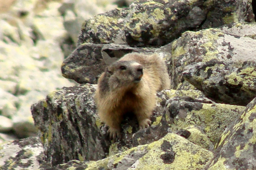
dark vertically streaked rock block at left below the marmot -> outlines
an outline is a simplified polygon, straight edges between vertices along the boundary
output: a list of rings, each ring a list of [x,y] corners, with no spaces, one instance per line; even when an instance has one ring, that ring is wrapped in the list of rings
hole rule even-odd
[[[46,161],[51,165],[106,156],[110,142],[102,139],[106,134],[97,127],[101,122],[96,114],[94,92],[95,87],[90,84],[63,88],[31,106]]]

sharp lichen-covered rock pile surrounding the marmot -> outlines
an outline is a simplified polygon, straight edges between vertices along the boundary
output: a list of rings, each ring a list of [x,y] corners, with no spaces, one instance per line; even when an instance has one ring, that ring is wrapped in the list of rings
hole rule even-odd
[[[12,154],[0,166],[256,169],[256,24],[246,22],[250,13],[246,0],[138,0],[86,20],[61,66],[64,77],[82,85],[33,104],[42,145],[36,137],[2,145],[1,155],[9,147]],[[98,118],[93,84],[105,66],[133,51],[162,56],[171,89],[157,94],[151,127],[139,130],[127,117],[113,143]],[[15,148],[19,154],[12,157]]]

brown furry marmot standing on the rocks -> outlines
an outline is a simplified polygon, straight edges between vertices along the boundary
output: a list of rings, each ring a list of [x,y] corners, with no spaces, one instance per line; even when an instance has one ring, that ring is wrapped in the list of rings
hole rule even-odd
[[[156,93],[170,88],[165,62],[158,54],[129,53],[106,67],[98,80],[95,101],[110,138],[121,138],[123,115],[133,112],[139,128],[151,125]]]

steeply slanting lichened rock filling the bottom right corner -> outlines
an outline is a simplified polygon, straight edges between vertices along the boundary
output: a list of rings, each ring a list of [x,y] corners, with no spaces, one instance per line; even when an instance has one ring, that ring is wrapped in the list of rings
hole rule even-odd
[[[221,135],[205,169],[256,169],[256,98]]]

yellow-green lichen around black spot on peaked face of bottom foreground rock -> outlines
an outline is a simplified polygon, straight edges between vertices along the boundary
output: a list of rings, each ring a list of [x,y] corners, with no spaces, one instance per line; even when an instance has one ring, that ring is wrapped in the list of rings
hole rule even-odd
[[[165,154],[165,151],[161,150],[164,140],[176,143],[172,145],[172,149],[176,153],[175,159],[170,164],[163,162],[161,158],[161,155]],[[158,169],[159,167],[161,169],[202,169],[204,165],[200,165],[198,162],[206,162],[206,159],[212,157],[210,151],[189,143],[188,140],[175,134],[167,134],[161,140],[148,144],[148,148],[151,149],[139,158],[136,169]],[[192,151],[188,152],[188,150]]]

